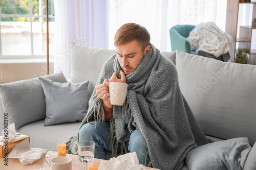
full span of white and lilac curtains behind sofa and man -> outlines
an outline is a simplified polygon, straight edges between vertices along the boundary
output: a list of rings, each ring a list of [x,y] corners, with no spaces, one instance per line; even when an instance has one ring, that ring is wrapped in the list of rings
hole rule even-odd
[[[70,43],[115,49],[114,35],[135,22],[151,34],[162,52],[171,51],[169,29],[214,21],[225,30],[227,0],[54,0],[54,72],[70,78]]]

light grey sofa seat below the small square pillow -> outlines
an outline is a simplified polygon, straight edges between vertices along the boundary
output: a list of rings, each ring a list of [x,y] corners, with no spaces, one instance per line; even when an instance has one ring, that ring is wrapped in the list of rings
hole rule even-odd
[[[16,132],[30,136],[31,148],[57,151],[57,144],[66,143],[70,137],[77,135],[81,122],[44,126],[45,119],[23,125]]]

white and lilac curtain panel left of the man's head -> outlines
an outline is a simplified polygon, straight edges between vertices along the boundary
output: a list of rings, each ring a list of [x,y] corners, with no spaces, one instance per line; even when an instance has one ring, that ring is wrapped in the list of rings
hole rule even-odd
[[[70,43],[108,48],[108,2],[54,0],[54,72],[70,78]]]

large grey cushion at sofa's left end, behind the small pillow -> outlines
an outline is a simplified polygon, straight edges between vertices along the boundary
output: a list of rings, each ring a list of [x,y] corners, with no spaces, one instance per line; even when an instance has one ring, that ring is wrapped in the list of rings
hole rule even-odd
[[[67,82],[62,72],[43,78],[60,83]],[[8,114],[9,124],[15,123],[16,128],[46,117],[45,94],[38,78],[0,84],[0,95],[1,128],[4,128],[5,112]]]

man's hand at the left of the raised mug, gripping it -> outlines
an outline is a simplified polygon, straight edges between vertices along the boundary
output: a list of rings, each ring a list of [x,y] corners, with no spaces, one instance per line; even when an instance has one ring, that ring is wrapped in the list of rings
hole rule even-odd
[[[96,94],[98,95],[99,99],[103,100],[107,108],[112,108],[113,105],[111,105],[110,100],[108,99],[110,96],[109,86],[106,84],[110,84],[108,79],[105,79],[102,84],[96,87]]]

